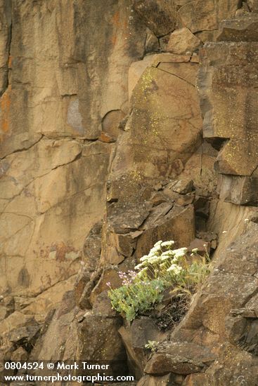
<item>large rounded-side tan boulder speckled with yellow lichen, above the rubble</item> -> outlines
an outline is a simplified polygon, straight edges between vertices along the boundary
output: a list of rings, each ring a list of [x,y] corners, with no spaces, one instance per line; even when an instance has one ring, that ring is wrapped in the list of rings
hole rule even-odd
[[[131,95],[131,115],[117,142],[111,180],[129,175],[135,185],[146,179],[172,178],[179,162],[186,162],[199,147],[198,64],[190,59],[187,55],[158,54],[141,75]]]

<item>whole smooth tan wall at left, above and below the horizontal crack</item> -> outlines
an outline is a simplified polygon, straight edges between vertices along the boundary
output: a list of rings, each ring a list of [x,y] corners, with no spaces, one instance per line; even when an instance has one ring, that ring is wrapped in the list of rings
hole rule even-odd
[[[112,145],[85,139],[120,133],[146,26],[111,0],[0,6],[0,288],[37,295],[77,272],[103,217]]]

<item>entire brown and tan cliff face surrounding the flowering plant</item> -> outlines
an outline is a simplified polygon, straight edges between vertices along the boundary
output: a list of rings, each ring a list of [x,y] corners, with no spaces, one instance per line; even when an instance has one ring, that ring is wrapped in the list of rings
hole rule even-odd
[[[258,1],[0,8],[0,359],[257,385]],[[159,239],[214,261],[167,333],[106,286]]]

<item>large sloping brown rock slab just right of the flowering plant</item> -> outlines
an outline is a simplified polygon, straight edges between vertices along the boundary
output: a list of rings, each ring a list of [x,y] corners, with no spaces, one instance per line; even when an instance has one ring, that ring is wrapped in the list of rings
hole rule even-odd
[[[180,328],[172,333],[182,338],[184,332],[201,331],[224,340],[225,322],[231,310],[244,307],[257,291],[257,226],[254,223],[236,238],[224,251],[220,251],[217,263],[205,284],[193,298]]]

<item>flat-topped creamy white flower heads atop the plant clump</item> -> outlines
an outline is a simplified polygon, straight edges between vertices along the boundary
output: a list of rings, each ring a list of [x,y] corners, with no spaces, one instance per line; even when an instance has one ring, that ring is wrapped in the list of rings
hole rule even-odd
[[[174,241],[157,241],[153,248],[150,249],[148,255],[144,255],[140,258],[141,263],[136,265],[134,269],[141,269],[138,272],[138,276],[141,276],[143,272],[148,270],[151,265],[159,265],[160,269],[165,269],[167,272],[173,272],[179,274],[182,267],[178,265],[178,262],[188,252],[188,248],[171,249],[174,245]]]

